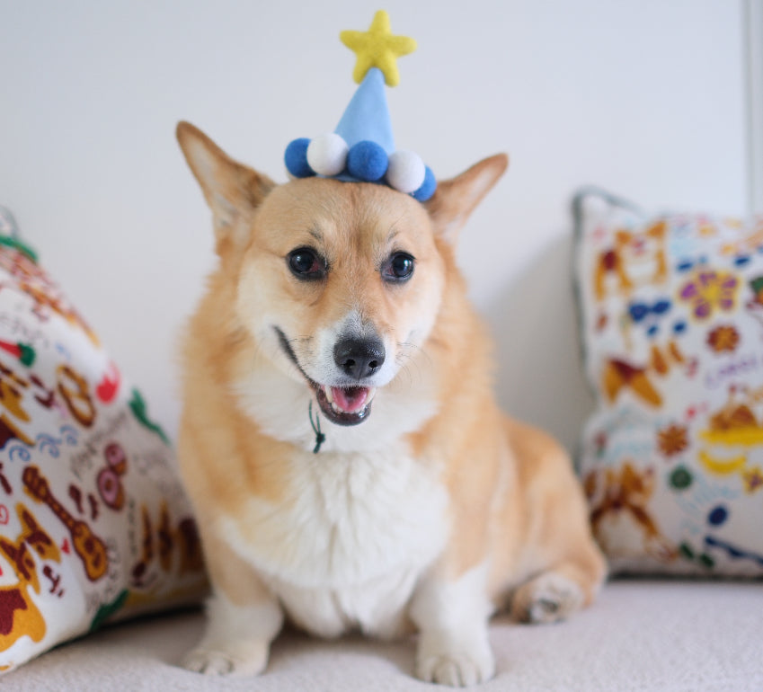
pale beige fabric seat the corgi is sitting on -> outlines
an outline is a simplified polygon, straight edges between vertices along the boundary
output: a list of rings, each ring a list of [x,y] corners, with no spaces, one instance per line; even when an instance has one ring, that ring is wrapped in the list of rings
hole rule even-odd
[[[198,612],[117,625],[0,679],[3,690],[429,691],[411,677],[413,641],[321,642],[282,634],[259,678],[210,679],[177,662]],[[614,581],[560,625],[492,623],[498,673],[479,688],[580,692],[763,690],[763,583]]]

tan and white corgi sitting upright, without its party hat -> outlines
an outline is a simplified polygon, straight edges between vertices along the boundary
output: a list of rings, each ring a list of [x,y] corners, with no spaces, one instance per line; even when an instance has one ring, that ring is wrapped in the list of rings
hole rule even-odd
[[[490,679],[493,612],[559,620],[605,576],[568,457],[495,403],[457,270],[507,157],[421,203],[277,185],[188,123],[177,136],[218,255],[182,353],[179,457],[212,585],[184,665],[259,673],[288,617],[323,637],[418,632],[420,679]]]

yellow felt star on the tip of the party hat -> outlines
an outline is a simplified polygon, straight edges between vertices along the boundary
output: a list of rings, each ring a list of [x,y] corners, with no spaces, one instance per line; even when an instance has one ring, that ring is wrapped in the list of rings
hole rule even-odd
[[[394,36],[389,25],[389,14],[379,10],[368,31],[342,31],[339,34],[342,43],[355,51],[357,60],[352,78],[360,84],[371,67],[378,67],[384,73],[387,86],[396,86],[400,82],[397,71],[397,58],[413,53],[416,41],[407,36]]]

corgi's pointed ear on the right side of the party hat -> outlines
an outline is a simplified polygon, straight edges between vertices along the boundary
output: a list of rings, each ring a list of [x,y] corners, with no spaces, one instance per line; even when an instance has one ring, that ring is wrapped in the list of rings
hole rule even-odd
[[[498,182],[508,165],[507,155],[496,154],[473,165],[455,178],[438,182],[437,190],[424,206],[429,211],[436,231],[449,243],[456,242],[458,231],[464,226],[466,219]]]

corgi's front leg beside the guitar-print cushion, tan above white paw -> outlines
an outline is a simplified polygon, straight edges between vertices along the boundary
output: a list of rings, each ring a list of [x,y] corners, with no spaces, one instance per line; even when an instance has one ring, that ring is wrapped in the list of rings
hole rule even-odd
[[[205,553],[213,590],[207,630],[183,667],[207,675],[260,673],[283,624],[278,600],[224,541],[206,540]]]

